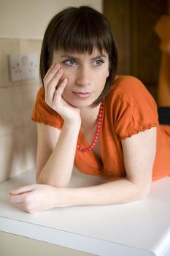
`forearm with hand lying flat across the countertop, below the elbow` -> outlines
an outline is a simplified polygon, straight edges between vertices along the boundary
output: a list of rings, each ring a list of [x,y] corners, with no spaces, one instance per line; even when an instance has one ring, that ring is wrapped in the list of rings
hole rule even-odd
[[[142,191],[127,179],[85,188],[32,184],[10,192],[12,203],[16,203],[19,208],[29,213],[54,207],[128,203],[145,196],[146,189]]]

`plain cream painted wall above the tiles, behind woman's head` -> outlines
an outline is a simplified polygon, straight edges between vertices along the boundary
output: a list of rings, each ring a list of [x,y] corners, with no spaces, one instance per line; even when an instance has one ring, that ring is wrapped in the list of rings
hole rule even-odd
[[[0,36],[42,39],[50,18],[71,5],[102,11],[102,0],[0,0]]]

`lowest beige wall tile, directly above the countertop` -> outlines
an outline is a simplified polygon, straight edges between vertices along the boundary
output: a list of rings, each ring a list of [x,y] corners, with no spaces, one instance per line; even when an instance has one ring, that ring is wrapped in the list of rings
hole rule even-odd
[[[36,167],[36,125],[0,136],[0,182]]]

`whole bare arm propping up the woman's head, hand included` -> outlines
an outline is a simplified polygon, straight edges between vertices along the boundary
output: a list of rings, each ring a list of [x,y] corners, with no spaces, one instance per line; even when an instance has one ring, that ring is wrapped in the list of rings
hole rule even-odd
[[[62,97],[67,80],[61,78],[63,69],[53,65],[44,78],[45,102],[64,120],[60,129],[38,124],[36,181],[55,187],[66,187],[72,176],[77,137],[80,130],[80,110]],[[57,88],[56,88],[57,87]]]

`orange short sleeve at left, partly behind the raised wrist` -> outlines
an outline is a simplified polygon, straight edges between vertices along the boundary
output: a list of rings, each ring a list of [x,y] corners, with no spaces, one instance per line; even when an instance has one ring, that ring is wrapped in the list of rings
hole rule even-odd
[[[63,126],[63,118],[45,103],[45,89],[43,87],[37,93],[31,119],[39,123],[49,124],[58,129]]]

